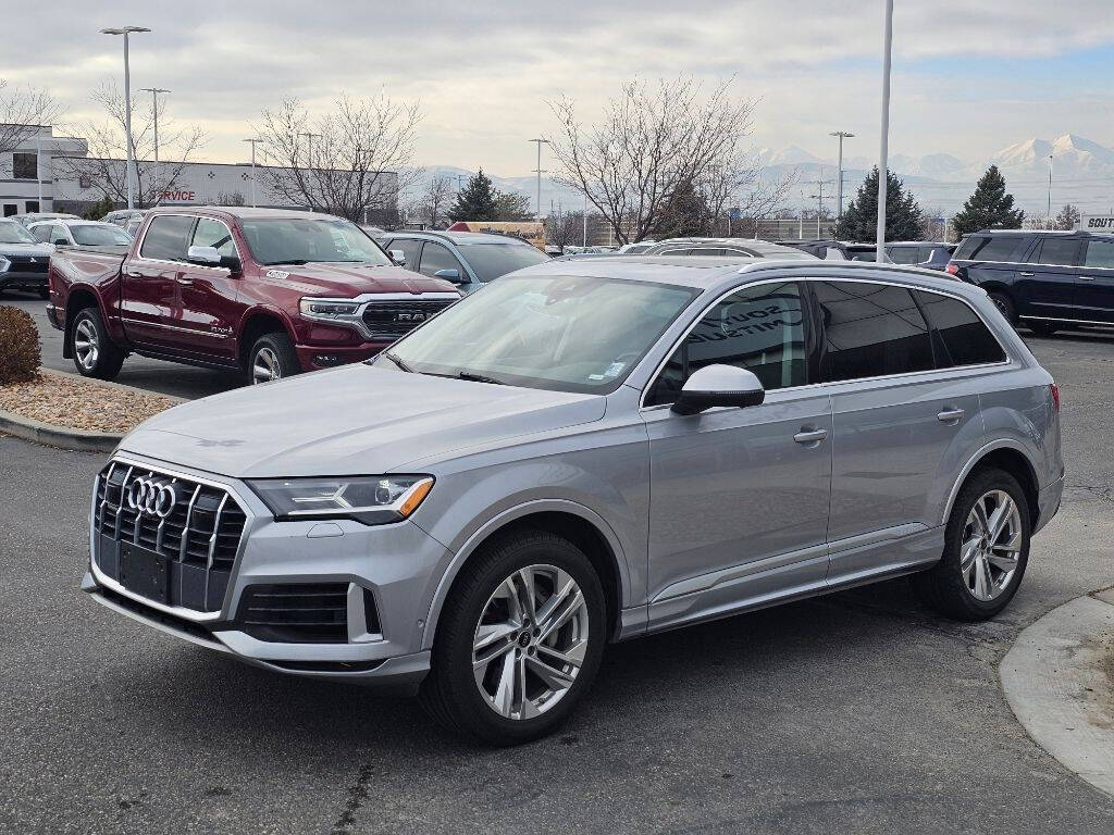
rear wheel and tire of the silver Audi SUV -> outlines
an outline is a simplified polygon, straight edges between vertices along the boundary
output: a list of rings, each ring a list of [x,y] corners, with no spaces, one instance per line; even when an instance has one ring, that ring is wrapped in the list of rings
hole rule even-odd
[[[971,546],[981,533],[979,523],[971,524],[973,515],[977,515],[976,505],[981,504],[984,518],[989,515],[993,522],[996,509],[1003,503],[1003,495],[1013,502],[1013,511],[1006,511],[1009,517],[1006,525],[996,539],[991,539],[999,546],[987,550],[984,548],[987,540]],[[964,483],[951,508],[942,558],[931,569],[912,578],[913,588],[928,606],[941,615],[957,620],[993,618],[1006,608],[1025,577],[1030,533],[1028,502],[1017,479],[997,468],[977,469]],[[1008,543],[1010,548],[1001,543]],[[1010,551],[1012,559],[1007,559]],[[964,559],[965,552],[969,554],[967,560]],[[965,570],[965,562],[968,562],[969,569]],[[1009,566],[1013,568],[1007,576],[1006,568]],[[980,572],[985,572],[981,583]],[[983,595],[978,593],[980,584]]]

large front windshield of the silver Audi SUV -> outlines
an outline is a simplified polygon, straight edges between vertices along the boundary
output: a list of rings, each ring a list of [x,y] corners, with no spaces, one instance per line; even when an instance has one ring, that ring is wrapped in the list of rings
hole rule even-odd
[[[511,276],[452,305],[373,362],[422,374],[606,394],[618,389],[696,294],[617,278]]]

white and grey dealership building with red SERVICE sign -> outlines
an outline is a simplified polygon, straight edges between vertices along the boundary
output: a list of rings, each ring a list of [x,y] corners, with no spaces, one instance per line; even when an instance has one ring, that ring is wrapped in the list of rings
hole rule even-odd
[[[80,215],[102,198],[97,188],[98,174],[110,170],[111,179],[123,183],[123,159],[99,159],[88,155],[85,139],[55,136],[49,125],[31,126],[19,147],[0,155],[0,207],[4,217],[27,212],[68,212]],[[165,163],[144,160],[145,175],[158,179],[178,171],[173,183],[159,189],[159,206],[205,206],[221,203],[252,202],[250,163]],[[180,168],[180,170],[178,170]],[[309,208],[271,193],[266,187],[268,166],[255,167],[256,205],[273,208]],[[398,174],[383,171],[377,181],[378,199],[369,209],[370,219],[393,213],[398,206]],[[137,198],[138,199],[138,198]],[[124,203],[119,202],[119,207]]]

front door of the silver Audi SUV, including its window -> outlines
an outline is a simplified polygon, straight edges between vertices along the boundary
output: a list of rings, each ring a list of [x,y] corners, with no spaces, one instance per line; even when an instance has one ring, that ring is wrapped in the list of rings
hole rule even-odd
[[[823,587],[832,423],[828,394],[809,385],[810,332],[795,282],[741,288],[647,389],[652,629]],[[765,402],[672,412],[688,375],[713,363],[754,372]]]

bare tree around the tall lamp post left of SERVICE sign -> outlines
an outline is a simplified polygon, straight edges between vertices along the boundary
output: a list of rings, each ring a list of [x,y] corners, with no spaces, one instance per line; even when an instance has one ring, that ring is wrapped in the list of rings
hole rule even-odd
[[[72,179],[86,180],[114,203],[127,199],[127,120],[124,96],[108,81],[92,92],[92,100],[105,109],[105,118],[77,126],[87,137],[88,157],[56,157],[55,166]],[[205,145],[199,127],[179,127],[166,114],[166,101],[158,107],[158,159],[155,161],[154,105],[138,107],[131,101],[131,154],[136,167],[135,199],[139,206],[157,205],[162,195],[178,184],[186,166]]]

